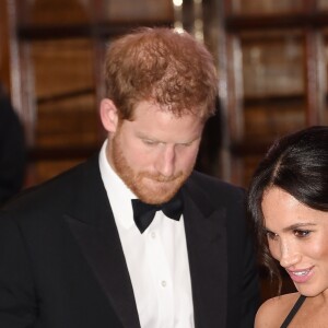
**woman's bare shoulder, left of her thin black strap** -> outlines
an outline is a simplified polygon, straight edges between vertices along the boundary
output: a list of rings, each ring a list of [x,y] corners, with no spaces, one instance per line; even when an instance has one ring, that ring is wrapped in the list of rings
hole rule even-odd
[[[259,307],[254,327],[280,327],[298,297],[300,293],[291,293],[269,298]]]

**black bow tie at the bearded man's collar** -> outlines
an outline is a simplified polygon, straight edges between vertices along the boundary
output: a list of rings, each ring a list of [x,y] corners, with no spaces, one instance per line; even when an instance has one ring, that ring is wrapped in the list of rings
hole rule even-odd
[[[178,221],[184,210],[184,203],[181,197],[176,195],[163,204],[150,204],[142,202],[140,199],[132,199],[132,208],[136,225],[140,233],[143,233],[152,223],[156,211],[163,211],[166,216]]]

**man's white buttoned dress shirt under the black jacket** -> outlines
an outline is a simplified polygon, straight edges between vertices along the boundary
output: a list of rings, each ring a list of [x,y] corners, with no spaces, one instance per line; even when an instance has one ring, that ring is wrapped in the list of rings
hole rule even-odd
[[[194,306],[184,218],[157,211],[140,233],[131,199],[137,198],[109,165],[106,143],[99,168],[118,229],[142,328],[194,328]]]

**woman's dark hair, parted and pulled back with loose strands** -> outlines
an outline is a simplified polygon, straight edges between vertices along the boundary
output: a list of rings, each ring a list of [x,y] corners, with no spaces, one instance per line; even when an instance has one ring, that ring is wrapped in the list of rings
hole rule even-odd
[[[328,211],[328,127],[311,127],[279,139],[258,165],[248,189],[247,208],[257,237],[260,262],[277,278],[279,266],[269,251],[261,202],[265,191],[279,187],[305,206]]]

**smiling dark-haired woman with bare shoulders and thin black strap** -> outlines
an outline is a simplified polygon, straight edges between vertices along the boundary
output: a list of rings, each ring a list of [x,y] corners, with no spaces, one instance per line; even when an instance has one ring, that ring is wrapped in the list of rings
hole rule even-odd
[[[278,140],[259,164],[248,192],[260,258],[296,293],[268,300],[255,327],[328,327],[328,127]]]

